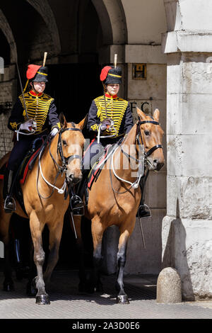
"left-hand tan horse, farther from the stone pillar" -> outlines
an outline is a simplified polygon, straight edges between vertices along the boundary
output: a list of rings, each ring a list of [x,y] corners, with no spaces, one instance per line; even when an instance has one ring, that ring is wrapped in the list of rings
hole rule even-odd
[[[49,141],[49,144],[43,147],[39,158],[35,160],[33,169],[28,171],[25,182],[21,185],[25,212],[15,198],[16,214],[22,218],[28,218],[30,223],[34,248],[33,259],[37,269],[37,276],[33,279],[32,286],[35,286],[35,290],[37,290],[36,303],[41,305],[50,303],[45,283],[49,281],[59,259],[64,214],[69,207],[68,188],[75,186],[82,178],[84,120],[78,124],[67,123],[64,115],[61,115],[60,121],[61,129]],[[5,160],[3,157],[0,164],[3,164]],[[9,290],[13,288],[8,249],[8,230],[12,214],[4,212],[3,181],[1,181],[0,189],[0,235],[4,242],[5,253],[4,290]],[[65,198],[66,200],[64,200]],[[42,266],[45,261],[45,252],[42,248],[42,231],[45,225],[49,229],[49,256],[47,268],[43,274]]]

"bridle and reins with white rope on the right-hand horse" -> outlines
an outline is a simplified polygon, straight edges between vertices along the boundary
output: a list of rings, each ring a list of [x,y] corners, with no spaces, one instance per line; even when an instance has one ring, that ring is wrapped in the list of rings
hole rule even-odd
[[[160,123],[158,123],[158,121],[155,121],[155,120],[138,120],[137,123],[136,123],[136,144],[139,145],[139,147],[141,147],[141,145],[143,147],[144,144],[143,144],[143,139],[142,139],[142,135],[141,135],[141,128],[140,128],[140,125],[143,125],[143,124],[146,124],[146,123],[151,123],[153,125],[160,125]],[[133,157],[131,156],[130,154],[128,154],[127,152],[124,152],[124,149],[122,147],[122,145],[120,146],[121,147],[121,151],[122,153],[130,159],[134,159],[136,161],[136,163],[139,164],[139,166],[141,166],[141,163],[144,162],[144,172],[142,174],[141,172],[141,167],[139,167],[139,175],[137,176],[137,179],[136,181],[134,181],[134,183],[131,183],[131,181],[126,181],[125,179],[121,179],[119,176],[117,176],[115,170],[114,170],[114,164],[113,164],[113,157],[114,157],[114,153],[116,152],[116,150],[119,148],[119,146],[117,147],[117,149],[114,150],[114,153],[112,154],[112,159],[111,159],[111,166],[112,166],[112,171],[114,173],[114,176],[117,177],[117,179],[121,180],[121,181],[124,181],[128,184],[130,184],[130,188],[128,188],[126,191],[129,191],[131,188],[138,188],[139,187],[139,183],[141,181],[141,178],[144,177],[145,179],[147,178],[148,176],[148,171],[149,169],[147,170],[146,172],[146,175],[145,175],[145,171],[146,171],[146,166],[148,164],[150,164],[150,162],[148,161],[148,157],[153,154],[153,152],[155,152],[156,149],[158,148],[162,148],[163,149],[163,146],[162,145],[155,145],[153,147],[151,147],[151,149],[148,149],[148,152],[143,152],[143,158],[142,159],[136,159],[136,157]],[[111,176],[111,168],[110,168],[110,182],[111,182],[111,185],[112,185],[112,176]],[[126,191],[124,192],[117,192],[114,190],[113,186],[112,186],[112,190],[115,192],[115,193],[126,193]]]

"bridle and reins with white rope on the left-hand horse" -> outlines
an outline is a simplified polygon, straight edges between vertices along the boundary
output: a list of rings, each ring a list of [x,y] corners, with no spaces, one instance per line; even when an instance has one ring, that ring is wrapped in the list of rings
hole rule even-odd
[[[42,157],[42,154],[45,150],[45,147],[47,145],[47,142],[49,140],[49,136],[47,137],[47,139],[45,140],[45,143],[40,151],[40,154],[39,154],[39,163],[38,163],[38,168],[37,168],[37,193],[38,195],[40,196],[40,198],[42,199],[48,199],[52,196],[52,194],[54,193],[54,189],[57,189],[58,193],[59,194],[63,194],[65,193],[66,191],[66,185],[69,185],[69,191],[70,191],[70,188],[71,188],[71,182],[70,182],[70,179],[67,177],[66,175],[66,178],[64,180],[64,184],[61,188],[57,188],[57,186],[55,186],[56,182],[57,182],[57,178],[59,176],[59,174],[61,174],[61,176],[63,176],[64,172],[67,171],[67,165],[68,163],[71,162],[72,159],[80,159],[82,160],[82,157],[80,155],[77,155],[77,154],[73,154],[69,157],[64,157],[64,152],[63,152],[63,148],[62,148],[62,139],[61,139],[61,135],[62,133],[64,133],[66,130],[74,130],[74,131],[79,131],[81,132],[81,130],[79,128],[76,128],[74,123],[72,123],[72,128],[61,128],[61,130],[59,130],[58,132],[58,140],[57,140],[57,154],[59,154],[59,156],[61,157],[61,162],[62,162],[62,165],[59,165],[57,163],[57,161],[54,159],[53,155],[52,155],[52,152],[51,152],[51,143],[52,141],[50,141],[49,143],[49,154],[52,158],[52,161],[54,162],[54,165],[57,167],[57,175],[55,176],[55,179],[54,179],[54,184],[50,184],[49,181],[47,181],[47,179],[45,179],[45,176],[42,174],[42,169],[41,169],[41,164],[40,164],[40,160],[41,160],[41,157]],[[52,186],[52,192],[49,194],[49,196],[47,197],[43,197],[41,194],[40,194],[40,191],[38,190],[38,179],[39,179],[39,171],[42,175],[42,179],[44,179],[44,181],[49,185],[49,186]],[[66,191],[65,193],[65,199],[67,198],[68,194],[69,194],[69,191]]]

